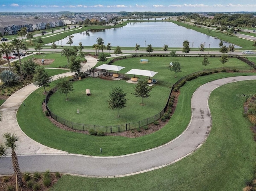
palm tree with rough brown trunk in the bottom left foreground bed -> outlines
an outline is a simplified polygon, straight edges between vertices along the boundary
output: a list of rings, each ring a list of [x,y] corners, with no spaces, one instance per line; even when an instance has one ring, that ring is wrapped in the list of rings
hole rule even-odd
[[[18,186],[21,187],[23,186],[23,182],[22,182],[22,175],[20,172],[20,167],[19,167],[19,163],[18,163],[18,157],[16,155],[16,142],[19,140],[18,136],[16,136],[15,134],[10,134],[8,132],[3,134],[3,137],[5,138],[4,140],[4,144],[7,148],[11,148],[12,149],[12,166],[14,169],[14,173],[17,175],[17,179],[18,179]]]

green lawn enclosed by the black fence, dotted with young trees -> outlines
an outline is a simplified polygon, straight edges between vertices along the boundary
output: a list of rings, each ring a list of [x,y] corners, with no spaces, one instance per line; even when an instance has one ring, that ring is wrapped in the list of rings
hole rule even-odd
[[[114,87],[122,87],[127,93],[127,107],[119,111],[120,117],[117,117],[117,110],[108,107],[108,95]],[[75,91],[68,94],[69,101],[66,101],[65,94],[56,92],[51,96],[48,106],[54,114],[72,122],[111,126],[138,122],[158,114],[170,94],[169,87],[154,85],[150,98],[145,98],[145,105],[141,106],[142,99],[132,95],[134,88],[135,85],[126,83],[126,80],[110,83],[100,78],[86,78],[74,83]],[[90,96],[86,95],[86,89],[90,89]],[[80,110],[79,115],[77,109]]]

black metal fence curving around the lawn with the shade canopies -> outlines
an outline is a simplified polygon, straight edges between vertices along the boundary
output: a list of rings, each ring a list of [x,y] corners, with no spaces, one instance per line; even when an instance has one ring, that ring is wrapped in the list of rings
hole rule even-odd
[[[166,111],[166,109],[168,108],[168,103],[169,103],[169,100],[170,100],[170,97],[171,97],[171,94],[172,94],[172,91],[173,91],[174,87],[176,87],[182,80],[187,79],[188,77],[193,76],[193,75],[198,75],[202,72],[214,72],[214,70],[218,70],[218,72],[219,72],[219,71],[225,70],[225,69],[227,71],[232,71],[233,69],[236,69],[236,70],[254,70],[254,69],[256,69],[256,66],[254,65],[254,63],[253,64],[250,63],[249,65],[250,66],[244,66],[244,67],[221,67],[221,68],[206,69],[204,71],[194,72],[194,73],[191,73],[189,75],[186,75],[186,76],[182,77],[176,83],[174,83],[173,85],[170,85],[170,87],[172,87],[172,88],[171,88],[170,95],[169,95],[168,101],[166,103],[166,106],[158,114],[156,114],[154,116],[151,116],[149,118],[146,118],[144,120],[141,120],[139,122],[119,124],[119,125],[113,125],[113,126],[99,126],[99,125],[75,123],[75,122],[71,122],[69,120],[66,120],[64,118],[61,118],[60,116],[57,116],[56,114],[51,112],[50,108],[47,105],[47,103],[50,99],[50,96],[57,91],[57,87],[51,89],[48,92],[44,102],[46,103],[46,109],[48,110],[48,112],[49,112],[49,114],[52,118],[54,118],[57,122],[59,122],[61,124],[64,124],[65,126],[67,126],[69,128],[72,128],[74,130],[89,131],[90,129],[94,129],[97,132],[103,131],[104,133],[121,132],[121,131],[140,128],[140,127],[146,126],[146,125],[151,124],[154,121],[160,119],[164,115],[164,112]],[[98,74],[99,74],[100,72],[104,72],[104,71],[103,70],[97,70],[96,72],[98,72]],[[98,77],[98,76],[95,75],[95,70],[94,69],[90,69],[90,70],[86,71],[86,73],[87,73],[87,75],[90,74],[90,76],[92,76],[92,77]],[[92,73],[94,75],[92,75]],[[111,72],[110,73],[108,72],[107,74],[111,75]],[[130,79],[130,76],[126,76],[124,74],[120,74],[120,76],[124,77],[124,79]],[[169,87],[169,84],[167,86]]]

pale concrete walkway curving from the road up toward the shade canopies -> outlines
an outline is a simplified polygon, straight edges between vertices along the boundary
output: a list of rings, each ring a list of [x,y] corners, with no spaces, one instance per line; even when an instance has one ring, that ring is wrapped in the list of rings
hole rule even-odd
[[[91,56],[86,56],[87,63],[82,65],[82,71],[86,71],[90,67],[94,67],[98,62],[97,59]],[[72,76],[74,73],[66,72],[52,77],[53,80],[58,79],[61,76]],[[13,95],[11,95],[1,106],[0,111],[2,112],[2,121],[0,122],[0,140],[3,142],[2,135],[5,132],[15,133],[19,138],[17,154],[46,154],[46,153],[67,153],[64,151],[56,150],[44,146],[22,132],[18,122],[16,120],[16,112],[23,101],[38,87],[33,84],[27,85],[20,89]],[[24,116],[26,117],[26,116]],[[9,150],[10,153],[10,150]]]

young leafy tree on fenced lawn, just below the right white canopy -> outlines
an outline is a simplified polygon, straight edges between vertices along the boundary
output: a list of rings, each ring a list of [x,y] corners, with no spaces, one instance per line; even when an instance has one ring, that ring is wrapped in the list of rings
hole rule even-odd
[[[152,90],[152,87],[148,86],[148,80],[146,79],[139,79],[138,83],[136,84],[134,93],[132,95],[135,95],[136,97],[142,98],[142,105],[143,98],[149,98],[150,97],[150,91]]]

